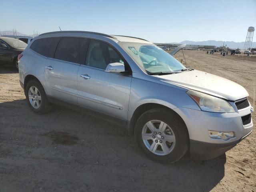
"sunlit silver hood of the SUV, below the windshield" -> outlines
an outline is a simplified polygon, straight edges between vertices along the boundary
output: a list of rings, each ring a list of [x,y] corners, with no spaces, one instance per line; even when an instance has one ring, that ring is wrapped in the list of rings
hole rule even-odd
[[[158,76],[158,78],[168,83],[204,92],[226,100],[235,101],[248,96],[248,92],[239,84],[198,70],[162,75]]]

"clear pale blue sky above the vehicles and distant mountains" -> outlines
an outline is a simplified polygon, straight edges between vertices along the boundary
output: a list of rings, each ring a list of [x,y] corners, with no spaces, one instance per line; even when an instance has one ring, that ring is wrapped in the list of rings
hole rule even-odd
[[[256,28],[256,0],[0,0],[0,9],[0,31],[28,35],[60,26],[151,42],[243,42]]]

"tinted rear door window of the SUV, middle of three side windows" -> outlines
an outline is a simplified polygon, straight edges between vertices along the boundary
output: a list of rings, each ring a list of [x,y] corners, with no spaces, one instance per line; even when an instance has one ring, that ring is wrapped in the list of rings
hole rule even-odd
[[[54,58],[84,64],[88,41],[86,38],[62,38],[58,44]]]

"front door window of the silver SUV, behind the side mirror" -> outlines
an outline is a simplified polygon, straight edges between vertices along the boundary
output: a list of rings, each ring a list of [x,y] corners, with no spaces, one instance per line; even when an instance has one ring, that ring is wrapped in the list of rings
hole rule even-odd
[[[107,43],[90,40],[86,57],[86,65],[100,69],[106,69],[110,63],[124,64],[122,57]]]

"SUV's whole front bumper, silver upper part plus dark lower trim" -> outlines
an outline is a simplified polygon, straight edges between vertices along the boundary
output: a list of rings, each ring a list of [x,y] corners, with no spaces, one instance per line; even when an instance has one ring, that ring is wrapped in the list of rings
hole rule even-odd
[[[251,113],[251,106],[234,113],[213,113],[189,108],[175,108],[184,120],[190,138],[190,156],[208,160],[230,150],[252,132],[252,119],[243,125],[242,116]],[[230,140],[210,138],[208,130],[235,132]]]

